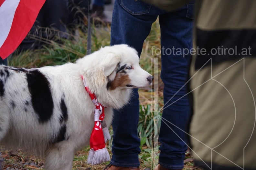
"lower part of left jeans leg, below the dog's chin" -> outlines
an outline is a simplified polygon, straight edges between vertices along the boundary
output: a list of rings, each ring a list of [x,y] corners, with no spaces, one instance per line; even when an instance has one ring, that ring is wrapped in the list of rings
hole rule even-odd
[[[131,102],[121,110],[114,111],[112,121],[113,143],[111,164],[122,167],[139,166],[140,139],[137,125],[139,122],[139,94],[134,89]]]

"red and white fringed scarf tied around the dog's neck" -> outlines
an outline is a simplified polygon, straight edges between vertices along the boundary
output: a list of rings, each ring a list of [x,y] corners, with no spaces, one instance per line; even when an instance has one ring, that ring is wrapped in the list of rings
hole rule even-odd
[[[110,156],[108,150],[106,148],[105,142],[110,140],[111,136],[109,134],[106,123],[103,121],[104,114],[104,106],[102,106],[95,94],[91,93],[89,87],[81,75],[85,90],[90,95],[92,102],[95,104],[94,110],[94,127],[91,132],[90,138],[90,151],[87,159],[87,163],[91,165],[101,164],[102,162],[107,162],[110,160]]]

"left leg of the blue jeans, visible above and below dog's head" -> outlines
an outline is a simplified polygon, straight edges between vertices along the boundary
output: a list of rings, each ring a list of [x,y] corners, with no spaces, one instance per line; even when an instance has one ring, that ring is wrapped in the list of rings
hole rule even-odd
[[[130,1],[132,3],[132,1]],[[133,1],[135,3],[135,1]],[[127,3],[127,1],[126,1]],[[143,42],[151,30],[157,15],[132,15],[116,0],[111,25],[111,45],[128,44],[141,54]],[[130,6],[129,6],[130,7]],[[139,166],[140,139],[137,126],[139,121],[139,95],[133,89],[133,96],[128,105],[114,111],[112,121],[113,144],[111,164],[122,167]]]

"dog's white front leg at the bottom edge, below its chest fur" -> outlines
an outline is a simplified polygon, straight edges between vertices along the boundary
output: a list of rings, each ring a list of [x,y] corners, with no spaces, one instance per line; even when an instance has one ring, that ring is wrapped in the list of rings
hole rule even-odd
[[[59,144],[51,146],[45,158],[45,170],[72,170],[75,149]]]

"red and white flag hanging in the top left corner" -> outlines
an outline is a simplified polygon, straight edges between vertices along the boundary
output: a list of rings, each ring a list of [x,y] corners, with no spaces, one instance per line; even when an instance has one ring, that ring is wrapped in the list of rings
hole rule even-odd
[[[46,0],[0,0],[0,57],[8,57],[24,40]]]

